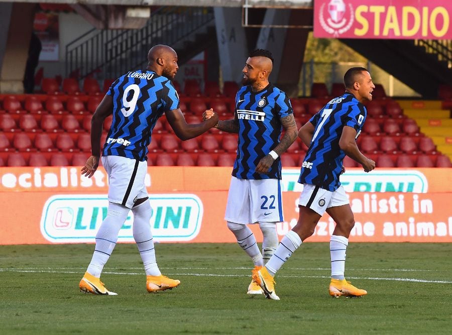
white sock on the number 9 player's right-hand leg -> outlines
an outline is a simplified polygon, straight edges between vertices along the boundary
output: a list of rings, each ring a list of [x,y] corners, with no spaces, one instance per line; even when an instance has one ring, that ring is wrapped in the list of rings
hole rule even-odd
[[[162,273],[155,259],[154,239],[151,232],[151,204],[149,200],[132,208],[134,213],[133,233],[147,276],[160,276]]]

